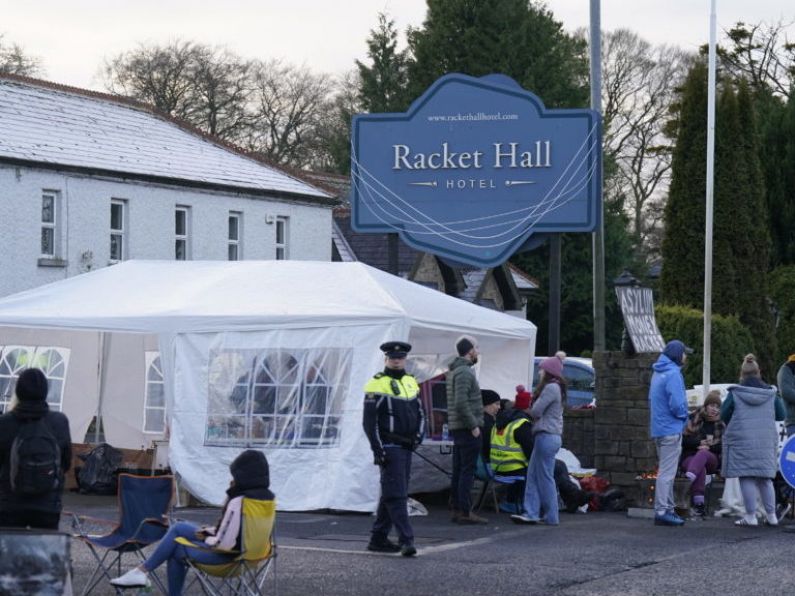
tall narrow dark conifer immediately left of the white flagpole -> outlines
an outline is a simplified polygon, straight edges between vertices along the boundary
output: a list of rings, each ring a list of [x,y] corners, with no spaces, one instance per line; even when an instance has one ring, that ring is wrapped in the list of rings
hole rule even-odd
[[[707,151],[707,67],[696,62],[682,86],[662,241],[662,300],[703,306]]]

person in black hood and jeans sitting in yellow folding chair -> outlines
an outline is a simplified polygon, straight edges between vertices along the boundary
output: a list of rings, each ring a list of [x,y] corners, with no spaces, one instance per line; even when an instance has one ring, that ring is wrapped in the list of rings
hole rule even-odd
[[[232,561],[237,556],[236,552],[227,554],[218,551],[240,550],[243,497],[272,501],[274,496],[269,488],[268,460],[261,451],[247,449],[230,464],[229,471],[232,474],[232,482],[229,483],[226,491],[227,499],[221,520],[216,526],[200,527],[186,521],[173,524],[146,561],[111,580],[110,583],[120,588],[147,587],[149,586],[147,574],[167,563],[169,596],[179,596],[182,594],[188,571],[186,560],[190,559],[205,565]],[[177,538],[187,538],[195,542],[196,548],[179,544]]]

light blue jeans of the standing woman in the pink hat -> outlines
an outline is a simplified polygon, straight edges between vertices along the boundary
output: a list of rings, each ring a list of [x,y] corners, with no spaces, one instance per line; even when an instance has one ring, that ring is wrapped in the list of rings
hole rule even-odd
[[[560,523],[558,490],[555,487],[555,455],[561,444],[560,435],[545,432],[536,434],[533,438],[533,453],[527,466],[527,484],[524,489],[525,515],[531,519],[543,519],[551,526]]]

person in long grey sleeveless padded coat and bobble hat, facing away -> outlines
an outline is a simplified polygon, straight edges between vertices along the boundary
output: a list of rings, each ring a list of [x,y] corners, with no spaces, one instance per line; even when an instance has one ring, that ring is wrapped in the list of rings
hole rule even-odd
[[[738,526],[756,526],[756,491],[762,496],[765,522],[778,525],[773,478],[778,470],[776,420],[784,420],[784,403],[775,387],[762,381],[753,354],[748,354],[740,368],[740,384],[729,387],[721,406],[726,423],[723,435],[721,475],[739,478],[745,515],[734,522]]]

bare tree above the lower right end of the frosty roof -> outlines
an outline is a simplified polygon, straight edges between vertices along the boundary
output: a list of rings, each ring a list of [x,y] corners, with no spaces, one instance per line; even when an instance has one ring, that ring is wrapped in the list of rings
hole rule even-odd
[[[306,166],[317,146],[318,129],[328,115],[332,78],[279,60],[258,62],[252,72],[249,149],[277,164]]]

